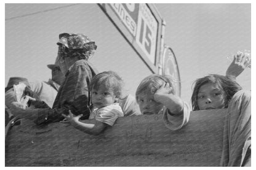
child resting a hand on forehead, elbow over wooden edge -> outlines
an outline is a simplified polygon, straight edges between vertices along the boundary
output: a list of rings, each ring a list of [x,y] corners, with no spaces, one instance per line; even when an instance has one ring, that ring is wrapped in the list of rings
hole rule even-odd
[[[142,114],[163,112],[165,125],[175,130],[188,122],[190,107],[174,94],[170,79],[164,75],[152,74],[138,85],[135,96]]]

